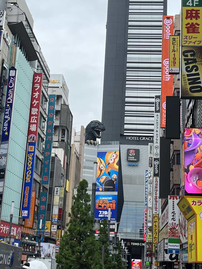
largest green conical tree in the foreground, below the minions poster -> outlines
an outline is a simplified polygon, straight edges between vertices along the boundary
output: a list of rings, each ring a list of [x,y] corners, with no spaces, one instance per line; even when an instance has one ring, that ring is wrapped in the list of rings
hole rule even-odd
[[[102,269],[99,242],[92,233],[93,216],[87,187],[88,182],[83,179],[73,197],[72,216],[56,255],[57,269]]]

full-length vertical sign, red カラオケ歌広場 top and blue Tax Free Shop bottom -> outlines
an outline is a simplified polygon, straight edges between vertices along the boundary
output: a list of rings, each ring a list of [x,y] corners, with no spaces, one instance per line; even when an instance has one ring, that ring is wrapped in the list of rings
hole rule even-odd
[[[34,161],[36,154],[36,141],[38,134],[38,123],[40,114],[42,73],[34,73],[32,83],[32,95],[29,114],[29,126],[27,133],[27,149],[25,158],[25,169],[21,197],[20,216],[29,218],[32,199],[32,183],[34,176]]]

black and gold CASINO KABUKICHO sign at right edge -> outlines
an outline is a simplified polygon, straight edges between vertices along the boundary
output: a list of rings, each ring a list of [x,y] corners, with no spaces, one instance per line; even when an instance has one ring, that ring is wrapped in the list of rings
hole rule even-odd
[[[201,54],[202,47],[182,47],[181,98],[189,99],[202,97]]]

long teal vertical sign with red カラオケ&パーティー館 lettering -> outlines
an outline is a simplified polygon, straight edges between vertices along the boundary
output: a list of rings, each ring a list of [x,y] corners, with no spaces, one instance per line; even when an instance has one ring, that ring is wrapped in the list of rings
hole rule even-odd
[[[48,101],[48,116],[47,116],[47,127],[46,127],[46,141],[44,147],[44,159],[43,159],[43,170],[42,170],[42,179],[41,185],[46,185],[47,189],[49,186],[49,176],[50,176],[50,165],[51,165],[51,150],[53,142],[53,127],[54,127],[54,116],[55,116],[55,101],[56,95],[50,94]],[[46,224],[46,210],[47,210],[47,201],[43,203],[41,197],[44,197],[46,192],[40,193],[40,203],[39,203],[39,217],[37,230],[39,230],[40,219],[42,219],[42,229],[41,229],[41,242],[44,240],[44,231]]]

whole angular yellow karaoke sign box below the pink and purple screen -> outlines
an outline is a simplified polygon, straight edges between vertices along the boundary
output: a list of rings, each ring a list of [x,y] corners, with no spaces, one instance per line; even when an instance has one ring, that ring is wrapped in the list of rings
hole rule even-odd
[[[191,247],[192,255],[194,254],[194,251],[196,252],[196,262],[197,263],[202,263],[202,232],[201,232],[201,227],[202,227],[202,196],[185,196],[187,202],[189,203],[190,207],[195,213],[195,242],[194,236],[192,236],[192,242],[189,240],[189,223],[188,222],[188,253],[189,248]],[[192,218],[193,220],[193,218]],[[191,239],[191,238],[190,238]],[[190,245],[191,243],[191,245]],[[189,255],[188,255],[188,261],[189,260]]]

